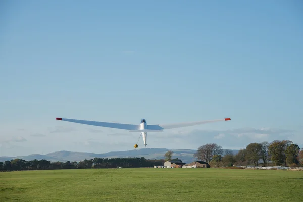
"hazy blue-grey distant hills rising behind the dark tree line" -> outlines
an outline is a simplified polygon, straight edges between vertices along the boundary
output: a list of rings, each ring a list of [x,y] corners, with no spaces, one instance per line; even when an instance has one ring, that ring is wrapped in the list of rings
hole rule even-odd
[[[11,159],[23,159],[26,161],[30,160],[41,160],[45,159],[51,162],[66,162],[66,161],[83,161],[84,159],[98,158],[125,158],[125,157],[144,157],[145,159],[163,159],[164,154],[168,151],[167,148],[142,148],[133,149],[128,151],[111,151],[104,154],[86,153],[86,152],[74,152],[74,151],[56,151],[46,155],[32,154],[28,156],[19,157],[0,157],[0,161],[4,162]],[[173,158],[179,158],[185,163],[190,163],[196,160],[193,154],[196,150],[192,149],[170,149],[173,153]],[[238,153],[238,150],[232,150],[234,154]]]

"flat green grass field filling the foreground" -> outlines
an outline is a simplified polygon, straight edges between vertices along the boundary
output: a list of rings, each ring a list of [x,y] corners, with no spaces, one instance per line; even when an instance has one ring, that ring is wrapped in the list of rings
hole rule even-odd
[[[303,171],[123,168],[0,172],[0,201],[303,201]]]

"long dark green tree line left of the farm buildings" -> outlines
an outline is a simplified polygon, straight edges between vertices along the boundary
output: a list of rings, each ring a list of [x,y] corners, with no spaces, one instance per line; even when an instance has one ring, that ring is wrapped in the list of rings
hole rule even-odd
[[[25,161],[23,159],[13,159],[0,162],[1,171],[20,171],[20,170],[54,170],[54,169],[85,169],[85,168],[139,168],[161,166],[164,160],[150,160],[141,158],[94,158],[85,159],[80,162],[51,162],[45,159]]]

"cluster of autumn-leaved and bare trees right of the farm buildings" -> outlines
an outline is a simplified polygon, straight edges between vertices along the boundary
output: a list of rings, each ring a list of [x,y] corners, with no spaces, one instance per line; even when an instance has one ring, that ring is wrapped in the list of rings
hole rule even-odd
[[[209,143],[200,146],[194,154],[198,160],[205,161],[211,167],[222,166],[303,166],[303,149],[290,140],[275,140],[271,143],[250,143],[234,155],[232,150]]]

